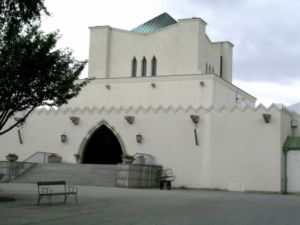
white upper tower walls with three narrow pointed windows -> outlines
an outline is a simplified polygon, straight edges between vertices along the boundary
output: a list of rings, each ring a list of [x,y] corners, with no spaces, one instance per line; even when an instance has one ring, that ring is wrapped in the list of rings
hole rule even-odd
[[[212,43],[205,34],[201,19],[184,19],[149,34],[97,26],[90,28],[89,77],[130,77],[131,62],[137,59],[137,76],[141,61],[147,59],[147,76],[151,60],[157,59],[157,76],[208,74],[206,64],[220,75],[223,57],[223,78],[232,80],[232,47],[230,42]]]

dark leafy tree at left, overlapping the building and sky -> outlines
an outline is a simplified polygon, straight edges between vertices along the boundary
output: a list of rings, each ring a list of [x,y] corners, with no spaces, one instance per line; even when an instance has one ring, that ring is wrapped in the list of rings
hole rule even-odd
[[[40,30],[43,14],[44,0],[0,0],[0,135],[39,106],[66,104],[88,82],[75,82],[86,61],[56,48],[58,32]],[[23,117],[8,125],[20,111]]]

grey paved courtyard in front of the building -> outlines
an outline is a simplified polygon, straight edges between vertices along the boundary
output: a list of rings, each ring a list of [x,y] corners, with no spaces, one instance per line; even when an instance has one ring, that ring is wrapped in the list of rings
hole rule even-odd
[[[36,205],[32,184],[0,184],[0,224],[113,225],[293,225],[300,224],[300,196],[203,190],[142,190],[79,186],[79,203],[72,196],[62,203]]]

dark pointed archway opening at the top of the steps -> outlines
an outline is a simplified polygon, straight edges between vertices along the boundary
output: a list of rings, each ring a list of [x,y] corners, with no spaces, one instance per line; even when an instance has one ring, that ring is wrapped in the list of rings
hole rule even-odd
[[[122,154],[118,138],[107,126],[102,125],[89,138],[82,163],[117,164],[122,162]]]

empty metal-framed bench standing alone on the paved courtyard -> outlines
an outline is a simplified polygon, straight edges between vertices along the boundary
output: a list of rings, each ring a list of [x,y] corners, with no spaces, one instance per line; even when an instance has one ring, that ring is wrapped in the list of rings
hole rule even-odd
[[[46,196],[51,204],[51,198],[54,195],[63,195],[64,202],[66,202],[69,195],[74,195],[76,204],[78,203],[77,192],[78,188],[70,185],[66,185],[66,181],[39,181],[38,185],[38,201],[40,204],[41,199]]]

